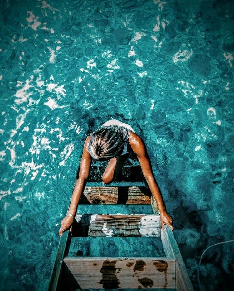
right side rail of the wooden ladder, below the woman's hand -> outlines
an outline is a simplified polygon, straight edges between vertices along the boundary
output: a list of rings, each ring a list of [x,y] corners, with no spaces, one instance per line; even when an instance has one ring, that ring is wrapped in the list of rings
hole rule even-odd
[[[173,257],[176,260],[176,290],[193,291],[193,285],[188,276],[174,234],[167,225],[164,226],[164,231],[161,230],[161,240],[166,256]]]

